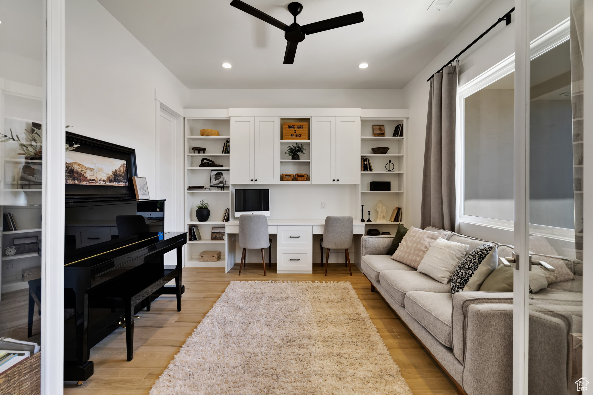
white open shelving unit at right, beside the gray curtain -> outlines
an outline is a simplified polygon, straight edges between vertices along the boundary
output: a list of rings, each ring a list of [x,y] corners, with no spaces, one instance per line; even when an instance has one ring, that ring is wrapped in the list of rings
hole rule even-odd
[[[403,124],[403,136],[391,136],[396,125]],[[372,135],[373,125],[384,125],[385,136],[375,137]],[[387,231],[395,234],[396,228],[400,223],[403,223],[406,216],[406,194],[404,185],[406,182],[405,169],[405,155],[406,155],[406,134],[407,134],[407,119],[406,118],[361,118],[361,158],[368,158],[371,161],[374,171],[362,171],[361,168],[361,184],[360,184],[360,200],[358,212],[361,212],[361,206],[364,205],[364,219],[365,230],[375,228],[381,232]],[[388,147],[386,154],[373,154],[371,148]],[[387,171],[385,167],[388,161],[393,163],[393,171]],[[377,191],[370,190],[371,181],[390,181],[391,190]],[[379,202],[387,208],[385,221],[377,222],[376,207]],[[401,215],[399,222],[390,222],[391,212],[394,208],[401,208]],[[366,222],[369,218],[368,212],[371,211],[371,221]]]

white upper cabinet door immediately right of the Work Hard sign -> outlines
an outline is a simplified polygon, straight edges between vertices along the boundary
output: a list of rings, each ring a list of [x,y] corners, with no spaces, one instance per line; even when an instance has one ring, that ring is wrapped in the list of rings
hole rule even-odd
[[[311,183],[336,183],[336,117],[311,118]]]

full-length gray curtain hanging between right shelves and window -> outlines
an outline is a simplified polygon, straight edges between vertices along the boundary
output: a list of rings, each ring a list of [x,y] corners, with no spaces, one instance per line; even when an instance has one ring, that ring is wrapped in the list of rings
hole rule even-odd
[[[457,65],[431,79],[426,117],[420,227],[455,231]]]

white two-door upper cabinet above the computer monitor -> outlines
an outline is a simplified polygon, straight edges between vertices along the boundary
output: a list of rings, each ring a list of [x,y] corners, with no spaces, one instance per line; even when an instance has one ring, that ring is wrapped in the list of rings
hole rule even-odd
[[[231,117],[231,184],[280,181],[278,117]]]

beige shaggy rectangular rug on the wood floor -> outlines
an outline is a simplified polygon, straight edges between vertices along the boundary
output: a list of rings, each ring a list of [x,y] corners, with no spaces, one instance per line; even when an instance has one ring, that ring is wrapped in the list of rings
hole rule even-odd
[[[151,395],[412,395],[350,282],[233,281]]]

